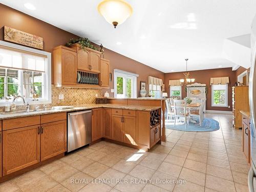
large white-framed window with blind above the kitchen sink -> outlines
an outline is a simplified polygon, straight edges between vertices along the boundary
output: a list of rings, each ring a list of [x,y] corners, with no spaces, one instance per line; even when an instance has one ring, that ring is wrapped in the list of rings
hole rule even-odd
[[[30,104],[51,103],[51,53],[0,41],[0,106],[17,95]]]

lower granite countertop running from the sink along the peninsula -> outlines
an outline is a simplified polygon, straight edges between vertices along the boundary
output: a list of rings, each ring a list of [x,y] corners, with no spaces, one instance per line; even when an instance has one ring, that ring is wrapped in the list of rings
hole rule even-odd
[[[28,117],[28,116],[36,116],[36,115],[46,115],[53,113],[61,113],[61,112],[75,112],[81,110],[91,110],[96,108],[117,108],[117,109],[126,109],[126,110],[139,110],[139,111],[154,111],[160,109],[160,106],[142,106],[142,105],[126,105],[126,104],[83,104],[83,105],[73,105],[72,109],[65,110],[54,110],[49,109],[39,110],[39,111],[31,111],[26,113],[26,111],[16,111],[16,112],[2,112],[0,113],[0,120],[3,119],[12,119],[17,117]]]

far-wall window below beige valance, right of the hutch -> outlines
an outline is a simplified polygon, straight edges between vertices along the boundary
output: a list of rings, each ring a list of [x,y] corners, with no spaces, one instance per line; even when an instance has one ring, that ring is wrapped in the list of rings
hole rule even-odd
[[[211,86],[211,106],[227,107],[227,84],[217,84]]]

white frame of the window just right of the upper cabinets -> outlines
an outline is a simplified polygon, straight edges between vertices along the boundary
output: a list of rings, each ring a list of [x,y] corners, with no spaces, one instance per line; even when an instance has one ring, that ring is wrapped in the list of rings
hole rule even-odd
[[[114,69],[114,97],[115,98],[127,98],[126,97],[126,78],[131,78],[132,79],[132,94],[131,98],[137,98],[137,77],[139,75],[135,73],[130,73],[127,71],[122,71],[118,69]],[[123,77],[123,92],[124,92],[124,97],[117,97],[117,77]]]

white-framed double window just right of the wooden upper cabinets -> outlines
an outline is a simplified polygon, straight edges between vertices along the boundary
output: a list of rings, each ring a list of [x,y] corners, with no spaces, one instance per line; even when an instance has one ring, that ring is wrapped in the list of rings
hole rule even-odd
[[[115,98],[137,98],[137,77],[139,75],[114,70]]]

